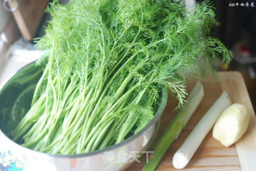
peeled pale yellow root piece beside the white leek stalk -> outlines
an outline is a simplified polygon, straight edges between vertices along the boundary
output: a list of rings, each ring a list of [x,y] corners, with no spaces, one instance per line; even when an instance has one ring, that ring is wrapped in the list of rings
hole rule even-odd
[[[250,122],[250,114],[244,105],[234,103],[227,107],[214,125],[213,136],[226,147],[233,145]]]

